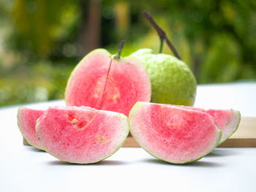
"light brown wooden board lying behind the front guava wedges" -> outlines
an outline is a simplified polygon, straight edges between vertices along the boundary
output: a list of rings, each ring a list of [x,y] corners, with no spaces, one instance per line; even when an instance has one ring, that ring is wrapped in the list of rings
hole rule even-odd
[[[23,139],[24,145],[29,145]],[[135,139],[127,137],[123,147],[140,147]],[[238,130],[218,147],[256,147],[256,118],[241,118]]]

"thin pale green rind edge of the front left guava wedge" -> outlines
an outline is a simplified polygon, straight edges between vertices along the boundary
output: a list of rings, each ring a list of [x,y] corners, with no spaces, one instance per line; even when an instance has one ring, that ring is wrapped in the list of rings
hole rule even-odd
[[[91,162],[86,162],[86,163],[83,163],[83,162],[76,162],[76,161],[64,161],[62,160],[61,158],[57,157],[56,155],[53,155],[52,153],[50,153],[48,150],[45,150],[47,153],[49,153],[50,155],[53,155],[53,157],[55,158],[58,158],[60,161],[63,161],[63,162],[67,162],[67,163],[70,163],[70,164],[96,164],[96,163],[99,163],[100,161],[103,161],[104,159],[106,158],[109,158],[111,155],[113,155],[114,153],[116,153],[116,151],[118,151],[118,149],[124,145],[124,142],[125,140],[127,139],[127,136],[129,134],[129,121],[128,121],[128,118],[127,116],[121,114],[121,116],[123,116],[126,120],[127,120],[127,125],[128,125],[128,129],[127,129],[127,133],[126,133],[126,136],[124,137],[124,140],[121,142],[120,145],[118,145],[118,147],[116,147],[116,150],[113,151],[113,153],[111,153],[110,155],[104,157],[104,158],[101,158],[97,161],[91,161]],[[36,132],[37,132],[37,128],[38,128],[38,123],[39,123],[39,119],[37,120],[37,123],[36,123]],[[37,134],[37,138],[39,139],[39,136]],[[39,139],[39,143],[42,145],[42,142],[40,141]],[[42,145],[44,147],[44,145]]]

